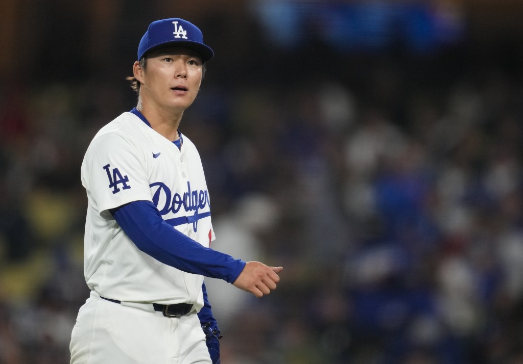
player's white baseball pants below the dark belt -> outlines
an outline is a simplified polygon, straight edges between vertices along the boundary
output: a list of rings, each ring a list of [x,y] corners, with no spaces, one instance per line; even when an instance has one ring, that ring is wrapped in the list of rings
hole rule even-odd
[[[71,335],[71,364],[211,364],[205,340],[194,311],[167,318],[152,304],[119,304],[91,291]]]

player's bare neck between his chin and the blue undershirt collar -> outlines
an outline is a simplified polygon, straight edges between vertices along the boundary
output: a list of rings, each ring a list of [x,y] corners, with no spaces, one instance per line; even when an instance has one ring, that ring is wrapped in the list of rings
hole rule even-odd
[[[138,102],[137,109],[145,116],[155,132],[163,135],[171,142],[178,139],[178,126],[181,122],[183,111],[166,111],[161,108],[151,107],[141,100]]]

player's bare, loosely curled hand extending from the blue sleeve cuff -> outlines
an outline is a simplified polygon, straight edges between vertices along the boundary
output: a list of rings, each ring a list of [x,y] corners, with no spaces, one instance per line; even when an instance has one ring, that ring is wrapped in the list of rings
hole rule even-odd
[[[282,270],[283,267],[269,267],[260,262],[247,262],[233,285],[253,293],[258,298],[263,297],[276,289],[276,284],[280,281],[278,273]]]

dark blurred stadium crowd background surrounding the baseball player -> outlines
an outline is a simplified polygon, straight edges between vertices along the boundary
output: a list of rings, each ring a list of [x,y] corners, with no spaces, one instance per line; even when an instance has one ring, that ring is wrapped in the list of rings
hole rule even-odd
[[[213,248],[224,364],[523,362],[520,0],[2,0],[0,363],[69,362],[87,298],[79,166],[135,104],[147,25],[215,51],[181,131]]]

